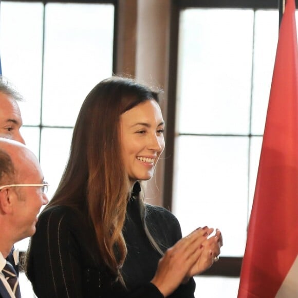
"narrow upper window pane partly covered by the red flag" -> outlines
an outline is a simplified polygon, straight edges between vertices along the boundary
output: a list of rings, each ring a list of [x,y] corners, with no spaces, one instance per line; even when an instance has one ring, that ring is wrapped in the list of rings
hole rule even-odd
[[[278,39],[278,11],[255,13],[252,134],[263,135]]]

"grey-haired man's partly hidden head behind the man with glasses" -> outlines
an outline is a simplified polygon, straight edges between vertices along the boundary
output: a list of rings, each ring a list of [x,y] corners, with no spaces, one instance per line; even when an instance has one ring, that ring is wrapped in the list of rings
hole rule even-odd
[[[17,101],[22,97],[11,84],[0,76],[0,137],[8,138],[25,144],[20,133],[23,125]]]

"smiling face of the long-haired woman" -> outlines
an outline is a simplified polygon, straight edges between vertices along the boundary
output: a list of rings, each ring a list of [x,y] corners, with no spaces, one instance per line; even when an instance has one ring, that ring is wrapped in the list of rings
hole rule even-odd
[[[120,118],[125,169],[132,182],[149,180],[164,149],[164,121],[158,103],[146,100]]]

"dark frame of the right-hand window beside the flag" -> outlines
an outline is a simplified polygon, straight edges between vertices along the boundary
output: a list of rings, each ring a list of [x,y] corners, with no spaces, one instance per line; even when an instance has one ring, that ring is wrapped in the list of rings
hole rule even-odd
[[[298,1],[296,2],[296,6]],[[278,9],[280,21],[283,9],[282,0],[172,0],[170,20],[170,47],[169,47],[169,82],[167,86],[167,122],[166,122],[166,147],[164,161],[163,180],[163,206],[172,210],[173,179],[174,179],[174,155],[177,112],[177,76],[178,76],[178,42],[179,42],[179,15],[180,11],[186,8],[248,8],[253,9]],[[239,277],[243,257],[220,257],[210,269],[200,275]]]

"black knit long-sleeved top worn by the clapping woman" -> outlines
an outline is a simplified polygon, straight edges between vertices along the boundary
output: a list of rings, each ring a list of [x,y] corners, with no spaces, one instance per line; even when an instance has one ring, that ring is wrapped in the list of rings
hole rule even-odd
[[[164,208],[146,204],[146,223],[165,250],[181,238],[176,217]],[[69,207],[43,212],[31,239],[27,274],[40,298],[163,298],[150,281],[161,255],[142,225],[137,199],[127,204],[123,235],[127,246],[122,276],[126,288],[103,265],[94,230],[83,213]],[[193,298],[193,278],[169,298]]]

